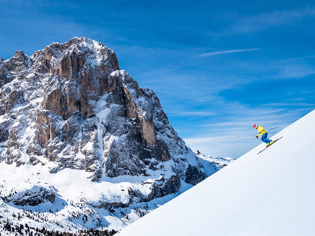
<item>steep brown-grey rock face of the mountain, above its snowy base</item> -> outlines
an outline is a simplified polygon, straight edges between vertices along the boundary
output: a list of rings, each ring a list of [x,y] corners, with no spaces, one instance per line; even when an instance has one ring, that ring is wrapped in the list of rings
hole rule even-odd
[[[0,94],[0,161],[7,164],[85,170],[91,181],[172,171],[153,198],[178,191],[180,179],[206,177],[156,94],[119,70],[100,42],[75,37],[31,56],[17,51],[0,60]]]

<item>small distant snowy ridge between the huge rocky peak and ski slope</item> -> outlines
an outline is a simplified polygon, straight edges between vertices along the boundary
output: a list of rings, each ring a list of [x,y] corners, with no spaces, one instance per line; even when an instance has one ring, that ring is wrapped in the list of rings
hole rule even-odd
[[[199,152],[199,150],[195,151],[194,153],[203,164],[207,176],[214,174],[215,172],[221,170],[223,167],[236,160],[236,158],[232,157],[223,158],[218,156],[203,155]]]

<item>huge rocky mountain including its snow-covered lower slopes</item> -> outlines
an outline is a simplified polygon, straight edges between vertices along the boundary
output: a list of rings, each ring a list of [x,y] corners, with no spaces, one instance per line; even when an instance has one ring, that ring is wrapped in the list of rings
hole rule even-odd
[[[100,42],[17,51],[0,60],[0,94],[0,216],[13,225],[119,230],[207,177]]]

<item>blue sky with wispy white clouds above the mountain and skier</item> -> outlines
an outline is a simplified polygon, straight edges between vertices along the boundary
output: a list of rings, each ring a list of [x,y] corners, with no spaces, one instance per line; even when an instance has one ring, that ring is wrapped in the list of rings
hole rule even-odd
[[[88,37],[192,149],[239,157],[315,109],[315,2],[0,1],[0,57]]]

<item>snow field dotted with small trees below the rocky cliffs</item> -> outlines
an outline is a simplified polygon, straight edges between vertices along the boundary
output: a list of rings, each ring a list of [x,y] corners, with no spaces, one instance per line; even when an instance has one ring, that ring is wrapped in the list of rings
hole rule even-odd
[[[119,176],[116,178],[103,177],[99,182],[91,182],[86,178],[88,173],[83,170],[64,169],[56,174],[51,174],[48,172],[47,166],[41,164],[36,166],[25,164],[16,167],[2,162],[0,169],[1,197],[8,196],[10,193],[14,194],[15,191],[31,189],[34,186],[53,189],[56,192],[53,203],[46,201],[37,206],[17,206],[13,202],[4,203],[1,200],[0,221],[9,219],[13,225],[27,223],[31,227],[45,227],[47,230],[58,230],[59,232],[76,232],[86,228],[120,230],[192,187],[181,181],[180,190],[176,194],[169,194],[147,203],[130,204],[129,207],[117,208],[115,212],[111,213],[92,205],[99,203],[100,200],[126,201],[127,203],[128,188],[138,189],[144,194],[149,193],[151,185],[143,184],[143,182],[150,182],[152,179],[144,176]],[[165,176],[168,176],[167,171],[165,171]],[[126,192],[126,195],[121,194],[122,189],[125,190],[123,192]],[[39,216],[39,222],[27,217],[29,211],[33,212],[30,213],[31,218],[34,216],[37,219]],[[12,216],[13,213],[16,217]],[[17,218],[18,213],[21,216],[20,220]],[[83,220],[84,215],[87,217]],[[0,226],[3,225],[0,224]]]

